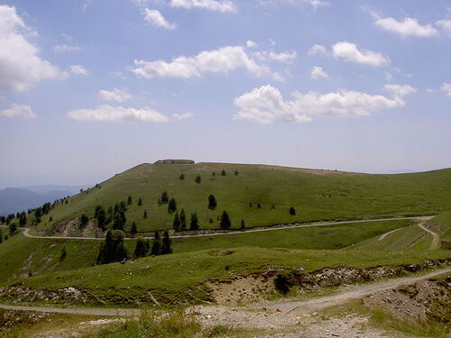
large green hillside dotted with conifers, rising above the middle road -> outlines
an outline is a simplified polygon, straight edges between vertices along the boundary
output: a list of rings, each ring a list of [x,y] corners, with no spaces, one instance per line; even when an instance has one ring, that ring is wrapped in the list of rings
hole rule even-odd
[[[226,176],[221,171],[226,171]],[[235,172],[237,175],[235,175]],[[185,179],[179,179],[184,174]],[[201,177],[201,183],[195,178]],[[97,205],[114,206],[132,196],[126,229],[168,229],[173,215],[157,201],[163,191],[184,208],[188,220],[197,212],[201,229],[218,228],[224,210],[238,228],[326,219],[369,216],[425,215],[451,210],[451,169],[399,175],[370,175],[340,171],[294,169],[266,165],[197,163],[141,164],[69,198],[42,217],[37,230],[51,228],[74,216],[94,215]],[[207,198],[216,196],[216,210]],[[138,206],[138,198],[143,206]],[[250,204],[252,203],[252,206]],[[260,204],[260,208],[258,205]],[[290,215],[293,206],[296,215]],[[148,217],[143,218],[144,210]],[[212,223],[210,223],[210,219]]]

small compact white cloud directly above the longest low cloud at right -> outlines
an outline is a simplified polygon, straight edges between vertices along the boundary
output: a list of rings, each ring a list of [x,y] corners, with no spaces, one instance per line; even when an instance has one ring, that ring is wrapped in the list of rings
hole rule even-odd
[[[332,46],[334,57],[374,67],[385,66],[390,59],[373,50],[359,50],[354,43],[342,41]]]

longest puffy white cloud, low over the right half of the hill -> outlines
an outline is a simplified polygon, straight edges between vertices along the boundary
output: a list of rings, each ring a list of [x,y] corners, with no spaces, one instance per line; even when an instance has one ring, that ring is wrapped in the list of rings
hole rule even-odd
[[[240,111],[234,115],[234,119],[258,123],[276,121],[300,123],[311,121],[313,116],[321,115],[369,116],[385,109],[405,105],[404,96],[413,93],[414,90],[410,86],[390,86],[392,87],[386,89],[393,93],[392,97],[340,90],[327,94],[294,92],[291,100],[285,100],[279,89],[266,85],[235,98],[235,105]]]

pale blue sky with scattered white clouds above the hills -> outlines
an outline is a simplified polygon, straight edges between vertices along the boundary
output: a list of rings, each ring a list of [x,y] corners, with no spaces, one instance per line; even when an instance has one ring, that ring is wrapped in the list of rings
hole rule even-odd
[[[446,0],[0,0],[0,187],[451,167],[450,66]]]

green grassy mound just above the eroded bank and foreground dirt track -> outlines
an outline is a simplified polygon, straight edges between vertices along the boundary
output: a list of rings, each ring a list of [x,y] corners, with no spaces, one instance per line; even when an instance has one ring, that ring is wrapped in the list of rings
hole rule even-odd
[[[197,303],[206,300],[201,287],[208,279],[235,279],[238,275],[268,269],[305,269],[307,273],[323,267],[417,263],[450,258],[450,251],[292,251],[256,247],[235,248],[227,254],[217,250],[175,253],[136,260],[133,264],[107,264],[92,268],[53,272],[24,279],[30,288],[57,290],[74,287],[87,291],[105,304],[135,306],[149,302],[148,293],[163,304]],[[101,302],[102,303],[102,302]]]

